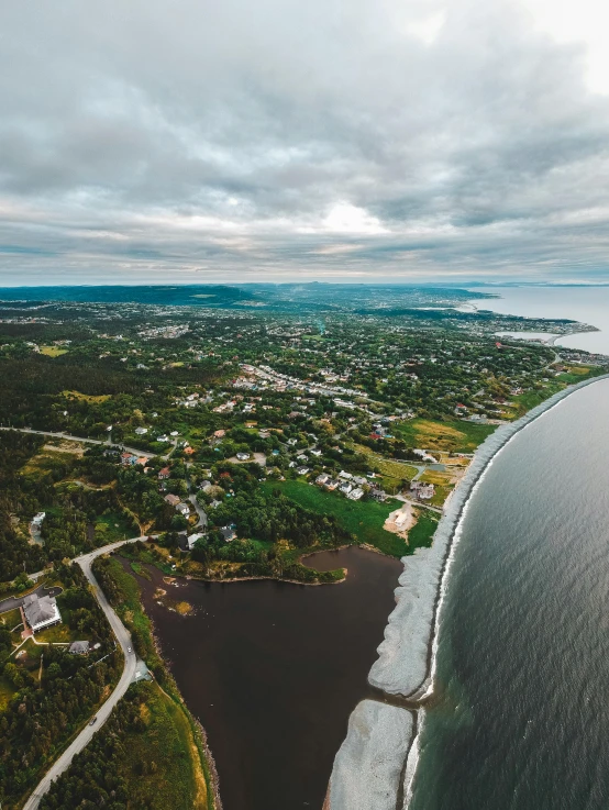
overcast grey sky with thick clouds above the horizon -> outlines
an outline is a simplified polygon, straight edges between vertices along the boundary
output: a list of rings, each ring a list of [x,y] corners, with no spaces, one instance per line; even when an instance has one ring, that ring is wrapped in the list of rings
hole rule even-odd
[[[0,282],[609,281],[602,5],[4,2]]]

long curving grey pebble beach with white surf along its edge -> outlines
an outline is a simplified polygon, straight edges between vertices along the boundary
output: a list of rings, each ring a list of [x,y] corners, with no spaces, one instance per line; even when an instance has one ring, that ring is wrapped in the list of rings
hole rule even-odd
[[[379,657],[370,669],[368,683],[388,696],[399,696],[411,701],[417,718],[418,710],[424,708],[424,701],[433,692],[442,604],[458,546],[461,528],[473,493],[481,484],[485,473],[497,455],[520,431],[575,391],[607,379],[609,374],[569,386],[535,406],[514,422],[500,425],[478,447],[450,503],[445,504],[431,548],[418,548],[413,555],[402,557],[405,568],[396,589],[396,608],[389,615],[385,639],[377,648]],[[357,709],[358,707],[352,717]],[[397,791],[395,780],[388,780],[385,789],[394,797],[392,807],[398,807],[398,810],[401,807],[406,810],[410,803],[423,722],[424,713],[413,726],[406,758],[399,746],[392,754],[395,759],[392,773],[399,765],[401,781]],[[370,802],[374,798],[372,792],[367,792],[367,785],[370,780],[375,783],[378,775],[368,763],[375,761],[374,741],[381,729],[370,726],[367,734],[362,736],[354,733],[354,726],[350,720],[347,735],[334,761],[326,800],[329,810],[344,810],[340,803],[340,796],[344,796],[345,790],[352,791],[355,786],[364,791],[364,802]],[[383,752],[383,755],[386,756],[386,752]],[[359,764],[358,767],[354,767],[356,763]],[[403,805],[401,805],[402,797]]]

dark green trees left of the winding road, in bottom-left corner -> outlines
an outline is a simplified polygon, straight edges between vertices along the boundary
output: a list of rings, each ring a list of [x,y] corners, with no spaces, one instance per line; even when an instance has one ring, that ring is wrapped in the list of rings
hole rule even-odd
[[[0,800],[14,808],[66,741],[91,715],[120,669],[110,628],[80,568],[58,566],[64,592],[57,604],[65,624],[99,648],[87,657],[45,646],[42,668],[32,670],[1,654],[2,673],[16,692],[0,714]],[[108,657],[106,657],[108,656]],[[101,661],[104,658],[103,661]],[[96,663],[93,666],[91,664]]]

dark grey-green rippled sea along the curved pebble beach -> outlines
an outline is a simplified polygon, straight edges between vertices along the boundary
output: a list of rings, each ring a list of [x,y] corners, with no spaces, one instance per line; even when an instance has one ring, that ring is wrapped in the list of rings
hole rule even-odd
[[[609,808],[608,418],[574,392],[474,491],[410,810]]]

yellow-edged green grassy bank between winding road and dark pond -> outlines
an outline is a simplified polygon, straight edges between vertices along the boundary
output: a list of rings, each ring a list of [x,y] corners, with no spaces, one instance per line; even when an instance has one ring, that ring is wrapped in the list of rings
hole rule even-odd
[[[121,776],[129,785],[129,806],[207,810],[206,777],[184,709],[155,683],[142,683],[137,689],[145,700],[141,707],[145,730],[128,733],[121,764]]]

